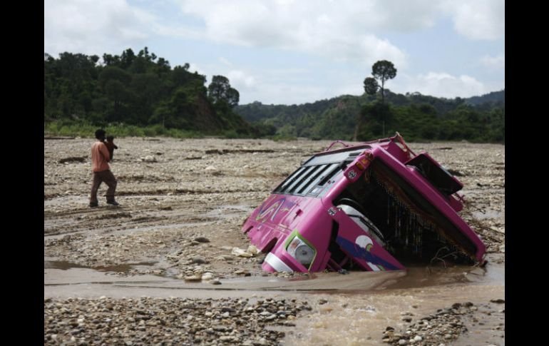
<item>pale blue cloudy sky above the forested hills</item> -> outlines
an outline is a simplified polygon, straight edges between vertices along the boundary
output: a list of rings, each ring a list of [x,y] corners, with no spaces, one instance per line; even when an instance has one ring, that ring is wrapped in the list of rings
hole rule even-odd
[[[145,46],[207,84],[226,76],[240,104],[358,96],[379,60],[393,92],[480,96],[505,88],[505,1],[44,1],[44,53]]]

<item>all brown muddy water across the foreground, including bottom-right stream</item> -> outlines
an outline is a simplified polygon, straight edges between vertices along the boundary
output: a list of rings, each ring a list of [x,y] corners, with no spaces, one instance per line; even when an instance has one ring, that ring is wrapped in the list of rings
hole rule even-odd
[[[387,326],[401,329],[402,312],[429,315],[454,302],[482,305],[505,296],[504,265],[485,268],[425,267],[393,272],[314,273],[296,278],[252,276],[222,280],[222,285],[185,283],[159,275],[120,278],[122,272],[154,263],[133,263],[113,268],[83,268],[71,263],[44,262],[44,297],[277,297],[306,299],[313,310],[296,321],[284,345],[379,345]],[[319,304],[321,299],[327,300]],[[504,345],[496,335],[504,312],[493,313],[482,325],[451,345],[483,345],[486,340]]]

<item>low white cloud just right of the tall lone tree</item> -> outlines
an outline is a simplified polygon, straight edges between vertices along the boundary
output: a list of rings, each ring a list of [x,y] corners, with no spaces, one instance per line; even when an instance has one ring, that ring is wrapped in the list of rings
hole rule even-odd
[[[471,97],[488,92],[483,83],[471,76],[452,76],[444,72],[420,74],[416,77],[408,78],[407,84],[405,87],[406,91],[419,91],[424,95],[446,98],[455,98],[457,96]]]

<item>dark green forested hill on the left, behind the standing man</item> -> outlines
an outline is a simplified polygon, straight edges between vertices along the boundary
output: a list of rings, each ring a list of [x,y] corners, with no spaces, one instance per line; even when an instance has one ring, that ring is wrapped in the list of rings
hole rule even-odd
[[[44,54],[44,126],[127,124],[202,134],[255,136],[257,129],[233,111],[239,94],[227,78],[206,78],[170,67],[148,49],[99,56]]]

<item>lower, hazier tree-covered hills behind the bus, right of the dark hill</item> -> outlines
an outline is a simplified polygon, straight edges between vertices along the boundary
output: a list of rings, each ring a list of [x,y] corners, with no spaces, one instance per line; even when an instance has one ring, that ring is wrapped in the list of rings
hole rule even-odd
[[[384,116],[372,108],[376,99],[364,93],[299,106],[254,102],[235,111],[263,132],[280,136],[360,140],[399,131],[418,140],[505,141],[505,90],[450,99],[386,91]]]

